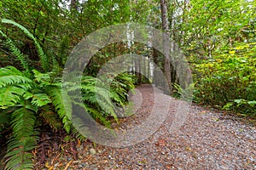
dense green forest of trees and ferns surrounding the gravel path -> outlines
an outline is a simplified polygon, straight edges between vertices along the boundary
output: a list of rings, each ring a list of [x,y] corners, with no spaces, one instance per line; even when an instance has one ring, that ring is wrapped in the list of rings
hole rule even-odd
[[[32,150],[45,127],[85,139],[70,120],[73,105],[111,127],[119,122],[119,108],[127,105],[129,91],[143,83],[153,83],[175,98],[192,91],[188,98],[197,104],[245,119],[255,117],[255,11],[253,0],[1,1],[0,144],[6,148],[5,168],[33,168]],[[83,74],[66,75],[72,82],[63,85],[65,65],[79,42],[102,28],[125,23],[165,32],[172,47],[167,44],[161,53],[130,35],[130,41],[102,46],[85,62]],[[189,71],[178,72],[166,59],[175,51],[182,52],[183,57],[177,57],[186,60]],[[128,54],[143,57],[126,61],[119,74],[110,71],[98,77],[103,65],[110,63],[111,68],[115,58]],[[157,71],[165,75],[167,88]],[[188,83],[181,80],[185,72]],[[78,91],[81,99],[71,95]]]

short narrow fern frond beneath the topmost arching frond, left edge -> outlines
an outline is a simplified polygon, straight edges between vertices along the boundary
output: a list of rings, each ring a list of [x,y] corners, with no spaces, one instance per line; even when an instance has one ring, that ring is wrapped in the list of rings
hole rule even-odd
[[[0,34],[2,34],[2,36],[6,39],[5,43],[9,50],[11,51],[11,53],[14,54],[17,57],[17,59],[20,60],[20,64],[26,70],[26,72],[30,73],[30,68],[26,56],[20,52],[19,48],[16,48],[15,43],[9,37],[7,37],[7,35],[4,34],[3,31],[0,31]]]

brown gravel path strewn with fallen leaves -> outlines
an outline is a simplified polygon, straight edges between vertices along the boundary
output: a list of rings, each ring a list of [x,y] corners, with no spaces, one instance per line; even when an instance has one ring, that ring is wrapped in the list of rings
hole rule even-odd
[[[119,130],[141,125],[150,116],[154,99],[160,98],[160,103],[170,105],[170,111],[148,139],[116,148],[89,140],[70,142],[61,139],[63,134],[46,132],[41,137],[46,142],[35,152],[36,169],[256,169],[254,124],[192,104],[183,125],[170,132],[177,106],[183,101],[169,98],[160,90],[154,94],[153,89],[151,85],[137,87],[137,94],[131,98],[137,113],[113,125]],[[159,106],[160,114],[163,109]]]

